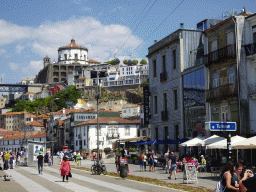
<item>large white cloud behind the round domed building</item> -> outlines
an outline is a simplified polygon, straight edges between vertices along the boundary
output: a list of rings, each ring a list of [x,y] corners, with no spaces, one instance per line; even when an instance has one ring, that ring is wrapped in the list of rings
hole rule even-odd
[[[92,17],[70,18],[67,21],[46,22],[33,33],[33,51],[44,57],[57,58],[57,50],[66,46],[74,37],[76,43],[89,49],[88,57],[98,61],[106,61],[113,56],[120,41],[132,31],[121,25],[103,25]],[[128,55],[142,42],[131,35],[118,55]]]

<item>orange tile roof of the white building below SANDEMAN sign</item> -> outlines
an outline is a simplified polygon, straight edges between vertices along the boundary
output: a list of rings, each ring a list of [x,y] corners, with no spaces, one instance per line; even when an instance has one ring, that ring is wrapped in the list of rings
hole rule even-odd
[[[116,121],[119,124],[139,124],[140,123],[140,120],[128,120],[128,119],[122,119],[119,117],[100,117],[99,118],[99,124],[107,124],[111,121]],[[75,127],[80,125],[93,125],[93,124],[97,124],[97,118],[89,121],[85,121],[83,123],[79,123],[75,125]]]

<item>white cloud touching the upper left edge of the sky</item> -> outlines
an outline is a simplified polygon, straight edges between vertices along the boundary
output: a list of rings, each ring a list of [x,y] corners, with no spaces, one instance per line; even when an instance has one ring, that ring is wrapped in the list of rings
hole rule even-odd
[[[9,23],[3,19],[0,20],[0,45],[12,43],[16,40],[29,38],[32,28],[22,27]]]

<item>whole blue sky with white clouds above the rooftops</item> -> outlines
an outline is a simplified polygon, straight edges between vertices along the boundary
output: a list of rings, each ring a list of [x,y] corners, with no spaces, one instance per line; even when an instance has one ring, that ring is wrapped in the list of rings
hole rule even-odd
[[[89,49],[89,59],[103,62],[114,55],[121,60],[145,59],[153,41],[177,30],[180,23],[193,29],[232,8],[240,11],[245,6],[256,12],[254,0],[0,0],[0,4],[3,83],[35,77],[43,58],[48,55],[57,61],[58,47],[72,38]]]

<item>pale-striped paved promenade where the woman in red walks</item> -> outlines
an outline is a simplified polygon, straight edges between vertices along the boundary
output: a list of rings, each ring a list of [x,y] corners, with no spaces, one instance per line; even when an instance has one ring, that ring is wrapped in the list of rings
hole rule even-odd
[[[72,169],[72,178],[69,182],[62,182],[59,168],[60,165],[55,161],[53,166],[44,167],[43,174],[38,174],[37,167],[17,166],[15,169],[0,171],[0,191],[5,192],[176,192],[181,190],[155,186],[147,183],[121,179],[104,175],[93,175],[88,171]],[[82,161],[86,166],[90,161]],[[74,164],[72,162],[71,164]],[[109,164],[109,169],[111,164]],[[4,181],[3,175],[11,175],[11,181]]]

